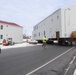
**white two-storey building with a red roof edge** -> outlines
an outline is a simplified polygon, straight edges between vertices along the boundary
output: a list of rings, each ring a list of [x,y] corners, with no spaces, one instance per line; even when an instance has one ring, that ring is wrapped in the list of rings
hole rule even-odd
[[[0,43],[3,39],[11,39],[15,43],[23,41],[23,27],[6,21],[0,21]]]

